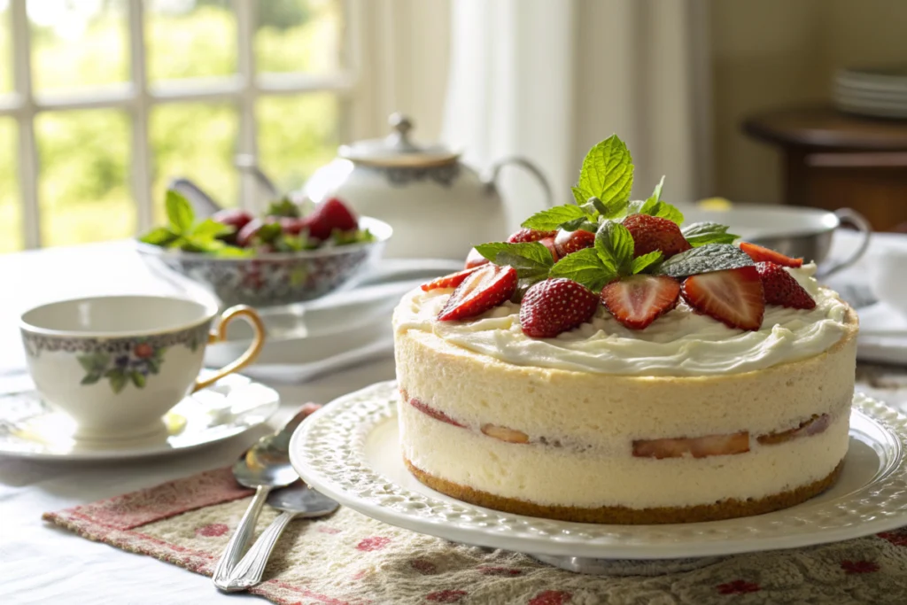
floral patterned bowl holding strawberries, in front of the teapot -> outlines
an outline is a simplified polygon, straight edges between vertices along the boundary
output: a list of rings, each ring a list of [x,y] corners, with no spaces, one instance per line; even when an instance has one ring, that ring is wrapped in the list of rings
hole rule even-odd
[[[224,307],[273,307],[323,297],[355,278],[384,252],[393,229],[384,221],[361,217],[375,241],[300,252],[261,254],[249,259],[213,257],[198,252],[162,249],[138,242],[141,258],[152,267],[200,283]]]

